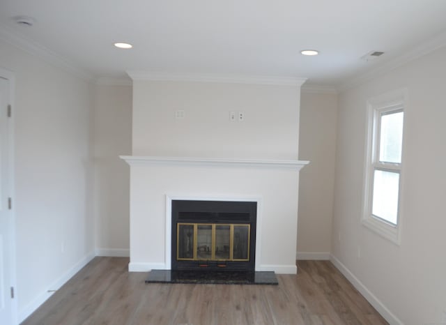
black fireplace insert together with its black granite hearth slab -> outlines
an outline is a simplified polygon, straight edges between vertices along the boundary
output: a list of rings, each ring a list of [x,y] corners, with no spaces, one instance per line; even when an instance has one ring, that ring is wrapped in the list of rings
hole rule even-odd
[[[171,269],[152,269],[146,283],[278,285],[274,271],[255,270],[258,202],[168,202]]]

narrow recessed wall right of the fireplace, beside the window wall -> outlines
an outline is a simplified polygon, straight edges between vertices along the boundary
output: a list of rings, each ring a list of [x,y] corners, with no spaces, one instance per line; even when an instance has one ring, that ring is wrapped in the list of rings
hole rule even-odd
[[[337,94],[302,89],[299,158],[311,163],[300,172],[298,259],[328,259],[331,251]]]

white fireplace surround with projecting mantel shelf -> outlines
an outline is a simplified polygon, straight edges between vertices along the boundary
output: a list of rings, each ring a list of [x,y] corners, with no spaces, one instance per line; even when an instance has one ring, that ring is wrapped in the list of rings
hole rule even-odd
[[[130,165],[129,271],[171,270],[171,201],[256,202],[255,271],[295,274],[307,161],[121,156]]]

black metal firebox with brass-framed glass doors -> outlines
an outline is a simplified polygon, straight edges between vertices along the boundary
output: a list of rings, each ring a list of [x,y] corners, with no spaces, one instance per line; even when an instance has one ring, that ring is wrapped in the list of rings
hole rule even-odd
[[[257,202],[171,204],[173,271],[254,271]]]

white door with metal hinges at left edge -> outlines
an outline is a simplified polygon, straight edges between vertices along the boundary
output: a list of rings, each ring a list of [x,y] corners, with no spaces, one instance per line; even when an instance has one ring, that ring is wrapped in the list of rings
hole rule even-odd
[[[0,75],[0,324],[13,324],[12,260],[13,213],[10,166],[9,82]]]

